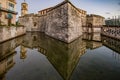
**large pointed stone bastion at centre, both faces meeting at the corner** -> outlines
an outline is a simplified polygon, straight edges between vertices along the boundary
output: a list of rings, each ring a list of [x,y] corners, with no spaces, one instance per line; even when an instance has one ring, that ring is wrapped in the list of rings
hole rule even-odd
[[[64,42],[82,35],[82,13],[70,2],[57,5],[47,14],[45,34]]]

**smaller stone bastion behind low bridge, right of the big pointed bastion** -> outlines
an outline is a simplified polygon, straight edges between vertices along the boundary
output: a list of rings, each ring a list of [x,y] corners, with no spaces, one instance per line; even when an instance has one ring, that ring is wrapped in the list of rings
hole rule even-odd
[[[86,17],[86,26],[83,26],[83,32],[93,33],[93,32],[101,32],[101,27],[105,25],[105,18],[96,15],[90,14]]]

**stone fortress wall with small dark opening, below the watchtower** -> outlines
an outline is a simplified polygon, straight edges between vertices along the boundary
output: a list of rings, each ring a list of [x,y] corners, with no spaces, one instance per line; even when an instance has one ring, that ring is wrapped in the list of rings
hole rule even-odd
[[[46,16],[39,16],[38,14],[28,14],[19,17],[19,23],[26,27],[26,31],[45,31]]]

